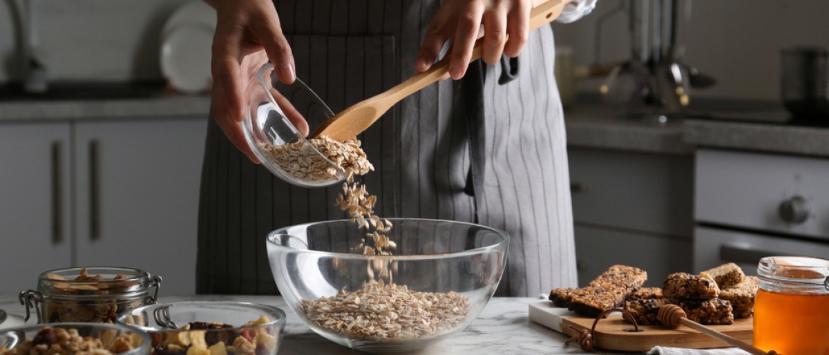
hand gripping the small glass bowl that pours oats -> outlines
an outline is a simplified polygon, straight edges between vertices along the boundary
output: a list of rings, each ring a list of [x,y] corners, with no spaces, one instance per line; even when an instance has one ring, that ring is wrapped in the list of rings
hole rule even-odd
[[[216,9],[211,74],[213,115],[230,142],[259,163],[245,141],[240,122],[245,118],[245,88],[250,77],[265,62],[274,63],[276,75],[285,84],[296,80],[291,46],[282,33],[279,15],[271,0],[205,0]],[[308,123],[293,122],[308,134]]]

